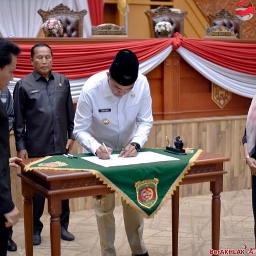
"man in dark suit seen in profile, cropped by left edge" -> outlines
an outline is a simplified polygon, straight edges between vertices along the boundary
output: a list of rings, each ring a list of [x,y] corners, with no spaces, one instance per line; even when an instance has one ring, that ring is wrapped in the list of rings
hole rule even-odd
[[[20,52],[20,48],[13,42],[0,38],[0,91],[3,91],[13,79],[16,56]],[[15,225],[19,219],[19,211],[12,201],[9,166],[17,167],[15,162],[22,159],[10,158],[9,121],[2,100],[0,100],[0,123],[0,255],[6,256],[9,227]]]

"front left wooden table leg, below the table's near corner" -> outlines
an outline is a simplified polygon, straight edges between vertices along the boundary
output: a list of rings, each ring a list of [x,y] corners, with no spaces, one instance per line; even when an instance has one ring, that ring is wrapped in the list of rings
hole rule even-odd
[[[59,195],[50,196],[48,199],[50,218],[51,255],[60,256],[60,214],[61,198]]]

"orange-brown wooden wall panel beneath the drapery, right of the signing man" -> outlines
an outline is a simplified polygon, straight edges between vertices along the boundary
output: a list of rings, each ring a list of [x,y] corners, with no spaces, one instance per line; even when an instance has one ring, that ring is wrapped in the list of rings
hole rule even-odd
[[[175,51],[146,77],[152,91],[154,120],[246,115],[251,103],[250,98],[232,93],[231,100],[220,109],[211,99],[211,81]]]

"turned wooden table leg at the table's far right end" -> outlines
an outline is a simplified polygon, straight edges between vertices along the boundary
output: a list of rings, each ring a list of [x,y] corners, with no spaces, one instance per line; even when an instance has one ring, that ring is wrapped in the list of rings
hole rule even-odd
[[[212,192],[211,199],[211,246],[214,250],[220,248],[220,224],[221,224],[221,196],[223,176],[217,176],[216,181],[210,182]]]

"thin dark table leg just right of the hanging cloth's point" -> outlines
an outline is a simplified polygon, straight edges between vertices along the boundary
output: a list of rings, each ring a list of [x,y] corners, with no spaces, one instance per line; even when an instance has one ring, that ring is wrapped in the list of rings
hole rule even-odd
[[[178,255],[179,206],[180,206],[180,187],[177,186],[172,196],[173,256]]]

